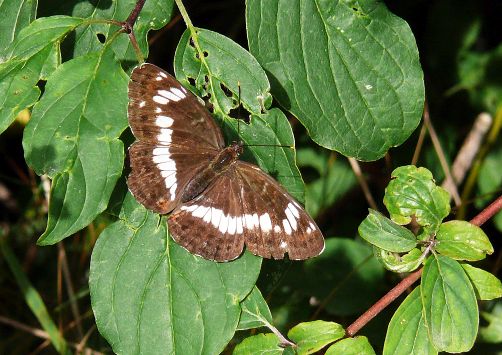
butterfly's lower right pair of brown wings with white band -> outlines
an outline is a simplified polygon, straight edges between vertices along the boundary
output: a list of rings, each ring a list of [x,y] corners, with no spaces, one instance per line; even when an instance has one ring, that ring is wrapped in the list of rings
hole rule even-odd
[[[199,198],[168,220],[173,238],[207,259],[238,257],[244,244],[265,258],[307,259],[324,249],[319,228],[304,209],[257,166],[237,161]]]

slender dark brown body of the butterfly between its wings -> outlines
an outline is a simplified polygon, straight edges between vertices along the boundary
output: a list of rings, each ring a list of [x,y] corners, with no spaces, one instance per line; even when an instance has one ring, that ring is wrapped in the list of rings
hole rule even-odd
[[[240,143],[233,143],[222,149],[205,169],[196,173],[188,182],[181,195],[181,202],[191,201],[204,192],[219,175],[237,161],[241,152]]]

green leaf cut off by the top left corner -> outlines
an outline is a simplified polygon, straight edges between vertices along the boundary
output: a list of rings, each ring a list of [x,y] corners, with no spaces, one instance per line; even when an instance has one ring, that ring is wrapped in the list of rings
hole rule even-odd
[[[28,26],[37,15],[37,0],[2,0],[0,14],[2,27],[0,28],[0,53],[14,41],[16,35]],[[0,58],[3,62],[5,58]]]

